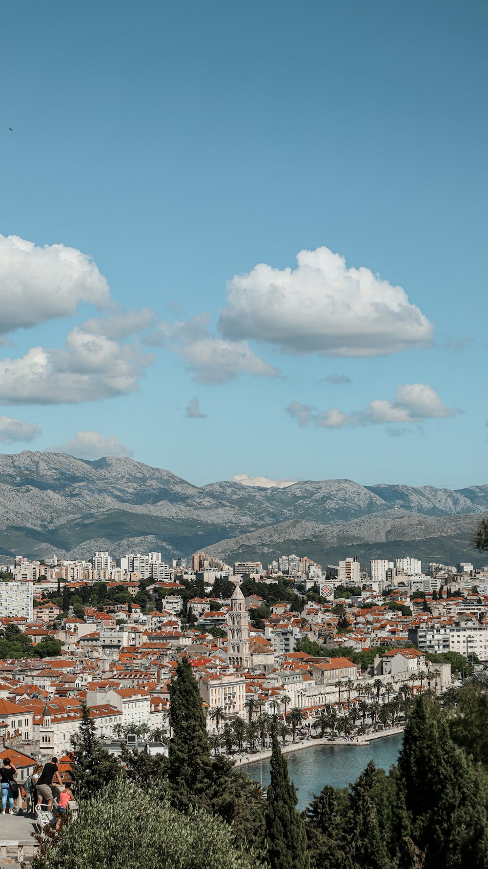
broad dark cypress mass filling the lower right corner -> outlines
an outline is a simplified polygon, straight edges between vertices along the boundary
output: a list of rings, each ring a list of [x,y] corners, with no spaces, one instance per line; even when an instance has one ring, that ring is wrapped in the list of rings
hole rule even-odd
[[[413,707],[398,758],[411,839],[425,869],[482,869],[488,861],[485,772],[450,739],[438,700]]]

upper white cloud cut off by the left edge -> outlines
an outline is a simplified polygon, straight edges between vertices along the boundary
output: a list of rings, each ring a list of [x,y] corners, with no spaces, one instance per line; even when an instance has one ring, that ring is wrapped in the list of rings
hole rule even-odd
[[[74,315],[79,302],[110,303],[108,283],[90,256],[0,235],[0,333]]]

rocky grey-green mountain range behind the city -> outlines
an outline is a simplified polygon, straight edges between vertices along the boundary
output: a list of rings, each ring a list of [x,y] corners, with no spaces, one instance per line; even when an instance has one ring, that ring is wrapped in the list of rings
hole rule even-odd
[[[124,458],[87,461],[25,451],[0,455],[0,557],[119,557],[157,550],[165,559],[197,550],[264,564],[278,554],[336,563],[416,555],[473,561],[471,534],[488,514],[488,485],[362,486],[351,480],[255,488],[220,481],[193,486]]]

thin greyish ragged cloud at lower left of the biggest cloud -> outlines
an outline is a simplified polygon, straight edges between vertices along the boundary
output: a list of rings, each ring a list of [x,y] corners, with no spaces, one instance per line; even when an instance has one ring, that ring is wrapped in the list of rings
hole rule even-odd
[[[161,322],[147,343],[168,347],[181,356],[197,383],[224,383],[241,374],[277,377],[277,368],[257,356],[246,341],[225,341],[210,335],[210,320],[209,314],[199,314],[186,322]]]

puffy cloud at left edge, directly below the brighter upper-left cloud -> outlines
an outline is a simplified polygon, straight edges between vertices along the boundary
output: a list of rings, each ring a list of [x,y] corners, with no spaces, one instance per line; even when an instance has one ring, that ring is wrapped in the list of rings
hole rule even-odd
[[[30,348],[0,361],[0,404],[78,404],[135,392],[151,361],[135,344],[74,328],[63,349]]]

